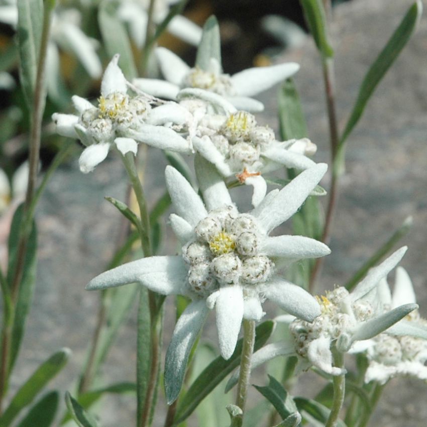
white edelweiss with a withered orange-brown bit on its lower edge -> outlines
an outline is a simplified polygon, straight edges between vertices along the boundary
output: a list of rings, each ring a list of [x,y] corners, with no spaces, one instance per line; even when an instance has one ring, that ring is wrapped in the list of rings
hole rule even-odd
[[[184,94],[193,93],[187,89]],[[181,92],[181,93],[182,93]],[[195,95],[200,93],[196,91]],[[182,96],[182,94],[181,94]],[[244,111],[228,115],[205,115],[198,123],[193,147],[214,164],[224,177],[236,176],[240,183],[252,185],[252,204],[264,198],[267,183],[261,173],[280,166],[307,169],[315,163],[305,156],[317,147],[309,139],[279,142],[267,126],[258,126],[255,117]]]

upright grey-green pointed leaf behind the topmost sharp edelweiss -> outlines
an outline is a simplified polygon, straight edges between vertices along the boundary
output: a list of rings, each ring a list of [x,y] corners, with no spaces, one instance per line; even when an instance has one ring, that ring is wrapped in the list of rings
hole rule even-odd
[[[197,48],[196,66],[204,71],[209,71],[211,58],[216,59],[221,67],[220,26],[213,15],[203,26],[201,41]]]

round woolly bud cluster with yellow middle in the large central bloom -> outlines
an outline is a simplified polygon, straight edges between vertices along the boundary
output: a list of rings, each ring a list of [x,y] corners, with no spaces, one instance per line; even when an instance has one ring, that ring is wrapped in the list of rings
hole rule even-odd
[[[195,227],[196,239],[183,247],[190,265],[188,284],[192,291],[208,296],[220,286],[264,283],[274,264],[258,250],[259,228],[249,214],[233,206],[215,209]]]

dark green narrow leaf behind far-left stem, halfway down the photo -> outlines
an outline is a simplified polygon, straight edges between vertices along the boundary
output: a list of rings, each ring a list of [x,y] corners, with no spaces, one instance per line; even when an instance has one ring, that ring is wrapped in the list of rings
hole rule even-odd
[[[15,212],[9,235],[9,263],[7,280],[9,285],[15,277],[18,256],[18,242],[22,230],[24,206],[21,204]],[[33,222],[27,242],[27,252],[24,260],[23,274],[19,285],[18,299],[15,308],[15,318],[12,333],[11,356],[9,369],[12,370],[19,353],[24,336],[25,323],[33,300],[37,266],[37,230]]]

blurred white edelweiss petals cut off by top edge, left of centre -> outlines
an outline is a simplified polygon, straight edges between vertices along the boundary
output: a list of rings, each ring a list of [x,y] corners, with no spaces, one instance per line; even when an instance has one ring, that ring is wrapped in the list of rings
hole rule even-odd
[[[157,0],[154,3],[153,20],[160,24],[169,13],[169,8],[179,0]],[[145,43],[147,32],[148,0],[122,0],[119,2],[117,16],[129,25],[132,40],[138,48]],[[167,26],[167,30],[185,42],[197,46],[201,39],[201,28],[182,15],[175,15]]]

